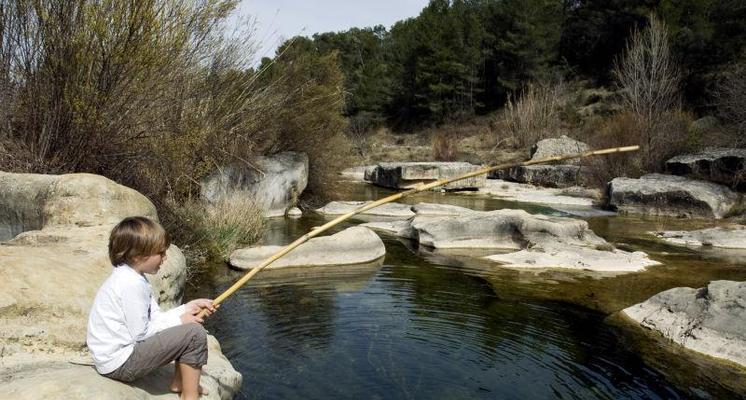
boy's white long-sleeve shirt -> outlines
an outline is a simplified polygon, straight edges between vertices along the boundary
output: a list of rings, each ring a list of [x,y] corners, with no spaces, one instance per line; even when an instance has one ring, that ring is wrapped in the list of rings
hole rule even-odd
[[[135,343],[181,324],[181,305],[162,312],[150,283],[129,265],[114,268],[98,289],[88,317],[86,343],[96,370],[108,374],[122,366]]]

